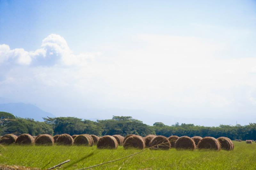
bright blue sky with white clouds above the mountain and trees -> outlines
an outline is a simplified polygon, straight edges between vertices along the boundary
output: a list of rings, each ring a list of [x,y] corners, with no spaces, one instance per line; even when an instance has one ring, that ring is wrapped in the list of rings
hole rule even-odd
[[[85,119],[256,122],[256,1],[0,0],[0,97]]]

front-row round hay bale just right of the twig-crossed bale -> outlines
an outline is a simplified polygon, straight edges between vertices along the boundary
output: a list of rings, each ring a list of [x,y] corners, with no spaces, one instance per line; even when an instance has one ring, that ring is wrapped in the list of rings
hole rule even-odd
[[[179,137],[175,142],[176,149],[196,149],[196,144],[193,139],[188,136]]]

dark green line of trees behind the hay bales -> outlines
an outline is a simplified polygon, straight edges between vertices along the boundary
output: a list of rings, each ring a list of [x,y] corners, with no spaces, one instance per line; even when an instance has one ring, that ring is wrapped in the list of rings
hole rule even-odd
[[[0,112],[0,136],[4,134],[20,135],[28,133],[32,136],[40,134],[94,134],[104,135],[122,135],[135,134],[146,136],[149,134],[163,135],[169,137],[177,136],[211,136],[211,137],[229,137],[230,139],[252,139],[256,140],[256,123],[249,125],[220,125],[218,127],[196,126],[194,124],[164,125],[162,122],[156,122],[153,126],[144,124],[140,120],[133,119],[131,116],[113,116],[107,120],[82,120],[76,117],[47,117],[44,122],[38,122],[30,118],[20,118],[7,112]]]

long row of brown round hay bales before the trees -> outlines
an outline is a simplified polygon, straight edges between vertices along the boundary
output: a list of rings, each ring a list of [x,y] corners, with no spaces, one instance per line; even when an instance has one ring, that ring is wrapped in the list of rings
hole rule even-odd
[[[82,134],[73,135],[72,137],[68,134],[55,135],[54,137],[44,134],[32,137],[28,134],[22,134],[20,136],[15,136],[13,134],[4,135],[0,138],[0,144],[38,144],[38,145],[84,145],[92,146],[97,145],[97,148],[110,148],[116,149],[118,145],[128,148],[150,148],[150,149],[163,149],[168,150],[170,148],[176,149],[214,149],[214,150],[233,150],[234,144],[227,137],[219,137],[217,139],[213,137],[188,137],[188,136],[156,136],[148,135],[146,137],[141,137],[138,135],[127,135],[123,137],[121,135],[113,136],[103,136],[98,137],[96,135]]]

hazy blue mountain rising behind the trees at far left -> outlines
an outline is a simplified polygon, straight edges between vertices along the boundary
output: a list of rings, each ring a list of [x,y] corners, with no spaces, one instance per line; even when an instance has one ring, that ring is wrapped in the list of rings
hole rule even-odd
[[[49,112],[26,103],[3,103],[0,104],[0,111],[9,112],[17,117],[33,118],[36,121],[43,121],[43,117],[55,117]]]

